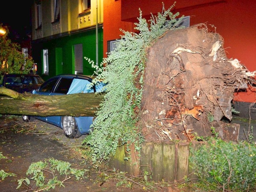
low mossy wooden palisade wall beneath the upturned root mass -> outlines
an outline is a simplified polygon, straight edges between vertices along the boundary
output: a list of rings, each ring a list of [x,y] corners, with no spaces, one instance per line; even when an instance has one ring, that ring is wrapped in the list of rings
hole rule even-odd
[[[184,177],[196,179],[196,175],[189,167],[190,147],[197,149],[200,142],[144,142],[141,149],[140,173],[152,171],[147,180],[181,183]],[[132,165],[124,160],[128,156],[126,146],[120,146],[116,150],[116,155],[110,158],[108,166],[123,172],[132,172]]]

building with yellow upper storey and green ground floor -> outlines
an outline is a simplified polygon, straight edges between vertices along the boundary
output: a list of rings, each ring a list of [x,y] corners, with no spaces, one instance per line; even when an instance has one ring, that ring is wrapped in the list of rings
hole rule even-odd
[[[103,0],[34,0],[31,15],[38,75],[93,75],[84,57],[102,62]]]

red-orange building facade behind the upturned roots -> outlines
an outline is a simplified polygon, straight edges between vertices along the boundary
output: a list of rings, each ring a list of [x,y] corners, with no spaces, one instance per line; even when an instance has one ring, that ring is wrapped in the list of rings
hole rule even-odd
[[[109,41],[119,39],[125,31],[134,31],[134,22],[142,16],[150,18],[162,10],[162,2],[168,9],[171,0],[107,0],[104,1],[103,56],[107,57]],[[229,59],[238,59],[250,71],[256,71],[256,0],[179,0],[173,13],[190,17],[190,26],[206,23],[216,27],[216,32],[224,39],[224,48]],[[256,88],[249,87],[247,92],[235,93],[235,101],[256,101]]]

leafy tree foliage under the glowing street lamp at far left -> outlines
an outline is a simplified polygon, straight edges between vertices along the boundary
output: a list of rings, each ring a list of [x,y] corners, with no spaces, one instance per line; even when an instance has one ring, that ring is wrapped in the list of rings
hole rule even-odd
[[[2,24],[0,24],[2,27]],[[9,30],[0,37],[0,83],[3,81],[4,73],[28,74],[33,66],[34,61],[30,56],[24,57],[21,52],[20,44],[12,43],[7,37]]]

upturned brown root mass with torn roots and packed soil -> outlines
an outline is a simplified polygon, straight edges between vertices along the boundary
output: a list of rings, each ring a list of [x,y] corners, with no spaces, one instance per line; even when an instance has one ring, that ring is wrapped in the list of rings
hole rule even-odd
[[[149,49],[140,122],[146,140],[209,136],[223,117],[232,119],[233,93],[255,72],[228,59],[223,44],[200,24],[171,30]]]

